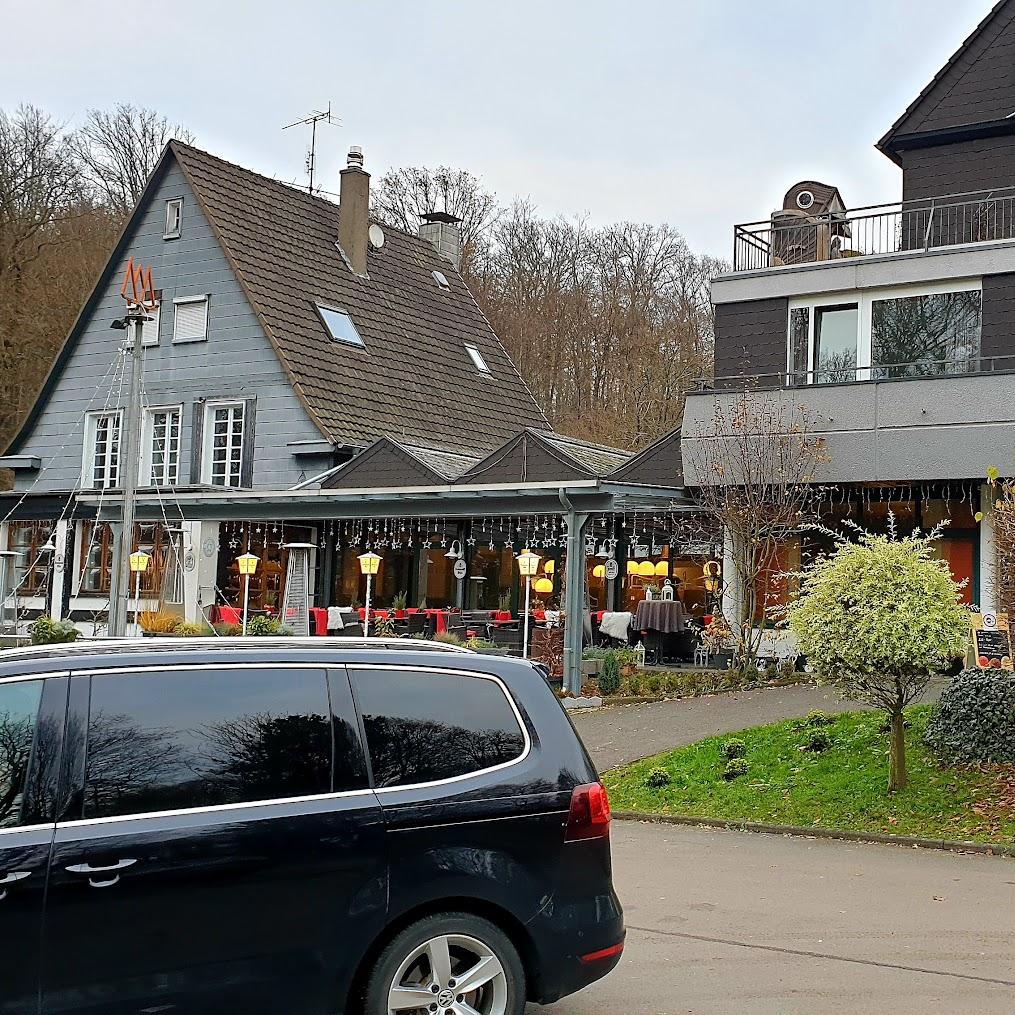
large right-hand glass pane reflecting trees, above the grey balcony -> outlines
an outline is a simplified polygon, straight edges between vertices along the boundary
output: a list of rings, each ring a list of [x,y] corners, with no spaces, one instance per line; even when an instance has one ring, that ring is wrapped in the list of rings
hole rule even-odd
[[[979,330],[978,289],[875,299],[871,303],[874,377],[978,369]]]

